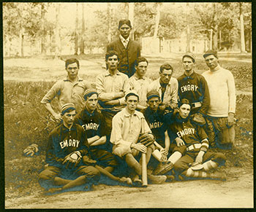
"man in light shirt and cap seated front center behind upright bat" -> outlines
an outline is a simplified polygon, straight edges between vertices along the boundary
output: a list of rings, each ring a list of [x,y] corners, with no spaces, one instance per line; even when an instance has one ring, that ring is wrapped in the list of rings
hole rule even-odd
[[[140,153],[145,153],[146,163],[148,163],[152,148],[154,148],[151,146],[154,143],[154,136],[143,114],[135,110],[138,105],[139,95],[131,90],[125,95],[125,101],[127,106],[113,117],[110,142],[114,144],[113,154],[124,159],[127,165],[135,171],[135,175],[141,176],[141,165],[135,157]],[[140,136],[142,129],[145,129],[145,132]],[[166,178],[166,176],[148,174],[148,179],[153,184],[162,184]],[[137,180],[137,178],[134,179]]]

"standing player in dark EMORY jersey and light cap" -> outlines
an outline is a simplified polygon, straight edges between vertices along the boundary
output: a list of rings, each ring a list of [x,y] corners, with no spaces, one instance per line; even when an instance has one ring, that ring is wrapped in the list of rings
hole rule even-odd
[[[178,97],[187,98],[192,103],[191,114],[199,125],[205,125],[205,116],[210,104],[206,79],[194,71],[195,55],[187,52],[182,57],[184,74],[178,77]]]

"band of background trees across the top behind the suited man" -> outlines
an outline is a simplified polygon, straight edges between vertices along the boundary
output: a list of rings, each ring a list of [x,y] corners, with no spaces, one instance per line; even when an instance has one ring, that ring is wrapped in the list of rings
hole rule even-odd
[[[133,21],[132,35],[189,39],[206,36],[217,50],[252,50],[252,8],[222,3],[3,3],[4,56],[83,54],[102,50],[118,20]],[[69,50],[69,51],[68,51]]]

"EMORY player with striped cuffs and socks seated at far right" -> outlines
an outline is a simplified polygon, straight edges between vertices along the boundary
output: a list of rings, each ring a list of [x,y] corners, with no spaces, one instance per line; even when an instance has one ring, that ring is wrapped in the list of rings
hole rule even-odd
[[[185,145],[187,150],[183,156],[174,163],[176,176],[182,178],[214,178],[224,180],[221,173],[208,173],[208,170],[224,165],[226,157],[219,152],[208,152],[208,137],[203,127],[200,127],[189,118],[191,103],[182,99],[178,113],[175,115],[175,122],[170,125],[173,138],[180,138],[181,145]],[[191,164],[191,167],[189,165]]]

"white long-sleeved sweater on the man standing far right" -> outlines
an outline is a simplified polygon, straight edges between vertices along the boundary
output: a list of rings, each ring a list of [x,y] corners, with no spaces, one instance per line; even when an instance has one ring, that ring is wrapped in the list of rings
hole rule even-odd
[[[202,74],[208,84],[210,106],[207,114],[211,117],[227,117],[236,111],[236,87],[233,74],[217,66]]]

